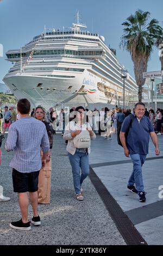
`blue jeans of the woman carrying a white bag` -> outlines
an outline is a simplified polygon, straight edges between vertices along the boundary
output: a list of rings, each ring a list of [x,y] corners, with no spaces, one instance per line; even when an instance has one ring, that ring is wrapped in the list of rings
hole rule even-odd
[[[74,155],[68,153],[68,157],[72,167],[72,176],[73,176],[73,185],[76,191],[76,194],[80,194],[80,186],[83,183],[83,180],[89,175],[89,155],[87,153],[76,152]],[[80,168],[82,174],[80,174]]]

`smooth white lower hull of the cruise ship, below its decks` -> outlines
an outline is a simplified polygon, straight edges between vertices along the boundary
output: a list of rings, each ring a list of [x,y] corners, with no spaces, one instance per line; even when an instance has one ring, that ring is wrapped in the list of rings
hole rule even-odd
[[[4,83],[10,88],[17,99],[27,98],[32,105],[42,105],[46,109],[59,103],[117,103],[116,96],[106,98],[105,93],[98,90],[97,84],[102,82],[101,78],[89,76],[88,71],[76,75],[75,78],[53,78],[42,76],[30,76],[20,74],[6,76]],[[37,87],[41,84],[40,87]],[[79,92],[81,87],[82,92]],[[68,87],[73,89],[68,90]],[[48,90],[47,90],[48,89]]]

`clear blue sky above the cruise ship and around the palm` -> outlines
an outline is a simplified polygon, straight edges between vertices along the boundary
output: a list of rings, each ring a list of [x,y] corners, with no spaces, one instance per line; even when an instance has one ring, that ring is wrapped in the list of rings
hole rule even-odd
[[[12,66],[5,60],[5,52],[17,49],[39,35],[43,27],[71,27],[74,14],[79,10],[88,31],[105,37],[105,42],[116,48],[117,59],[134,76],[130,54],[119,48],[122,22],[137,9],[149,11],[162,25],[162,0],[0,0],[0,44],[4,54],[0,57],[0,83]],[[147,71],[160,70],[158,50],[154,50]]]

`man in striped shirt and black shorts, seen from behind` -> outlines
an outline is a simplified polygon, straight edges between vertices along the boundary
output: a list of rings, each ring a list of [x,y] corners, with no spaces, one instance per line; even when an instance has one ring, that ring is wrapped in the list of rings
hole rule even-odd
[[[20,230],[30,230],[28,220],[28,194],[33,208],[34,225],[40,225],[37,212],[37,190],[39,170],[45,166],[49,154],[49,139],[46,126],[41,121],[29,116],[30,102],[21,99],[17,103],[17,111],[21,118],[9,127],[5,149],[14,150],[14,157],[10,162],[12,167],[12,181],[14,192],[18,193],[22,218],[11,222],[10,227]],[[43,151],[41,162],[40,146]]]

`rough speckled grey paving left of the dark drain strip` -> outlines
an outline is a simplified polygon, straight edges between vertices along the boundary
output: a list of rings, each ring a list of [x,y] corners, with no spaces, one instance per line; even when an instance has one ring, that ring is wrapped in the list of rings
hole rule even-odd
[[[2,145],[0,184],[11,200],[0,202],[0,245],[126,244],[89,178],[83,185],[85,200],[78,202],[74,198],[71,166],[61,135],[54,136],[51,204],[39,205],[41,226],[29,231],[11,229],[9,223],[20,218],[17,194],[12,192],[11,157],[12,152],[5,152]]]

